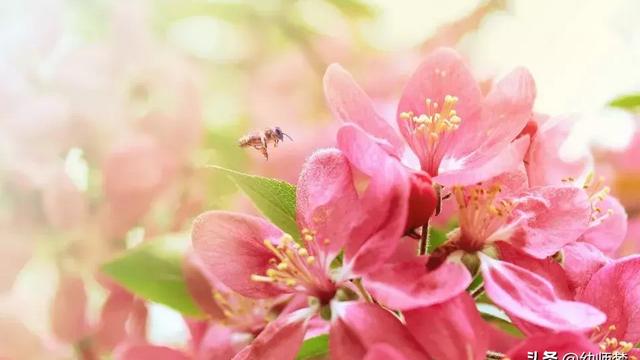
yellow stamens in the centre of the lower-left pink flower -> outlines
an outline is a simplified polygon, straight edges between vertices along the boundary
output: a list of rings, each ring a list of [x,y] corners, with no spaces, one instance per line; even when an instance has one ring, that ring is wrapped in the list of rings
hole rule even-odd
[[[253,274],[251,279],[305,292],[321,301],[328,301],[335,294],[335,285],[322,266],[324,261],[319,261],[323,259],[318,259],[322,257],[322,252],[315,232],[303,229],[302,239],[304,246],[296,243],[288,234],[282,236],[277,245],[266,239],[264,246],[274,255],[269,259],[271,266],[264,275]]]

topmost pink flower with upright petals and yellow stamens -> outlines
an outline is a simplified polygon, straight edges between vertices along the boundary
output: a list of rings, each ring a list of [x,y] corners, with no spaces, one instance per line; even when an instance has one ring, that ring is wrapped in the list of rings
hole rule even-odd
[[[380,117],[353,78],[331,65],[324,78],[334,116],[362,127],[402,156],[404,144]],[[468,185],[516,168],[528,138],[516,139],[531,117],[535,85],[514,70],[483,98],[454,51],[434,51],[418,68],[400,99],[398,128],[420,167],[442,185]]]

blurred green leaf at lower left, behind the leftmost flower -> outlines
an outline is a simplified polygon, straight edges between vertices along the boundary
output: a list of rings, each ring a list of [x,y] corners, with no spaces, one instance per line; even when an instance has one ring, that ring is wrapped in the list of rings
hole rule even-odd
[[[165,236],[125,251],[102,271],[132,293],[188,316],[202,311],[187,290],[182,259],[188,235]]]

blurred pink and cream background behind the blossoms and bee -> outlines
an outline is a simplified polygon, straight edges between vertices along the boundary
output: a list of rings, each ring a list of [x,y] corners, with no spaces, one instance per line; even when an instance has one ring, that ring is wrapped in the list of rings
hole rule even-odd
[[[102,264],[188,239],[204,210],[255,211],[204,165],[295,183],[334,142],[333,62],[389,119],[439,46],[487,87],[529,68],[536,110],[577,119],[564,155],[594,151],[638,251],[638,24],[637,0],[0,1],[0,358],[80,357],[120,291]],[[238,147],[275,126],[294,141],[268,161]],[[150,342],[184,344],[178,312],[140,309]]]

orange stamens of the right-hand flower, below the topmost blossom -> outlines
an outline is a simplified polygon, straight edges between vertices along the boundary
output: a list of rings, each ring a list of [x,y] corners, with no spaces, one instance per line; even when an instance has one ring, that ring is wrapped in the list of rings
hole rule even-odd
[[[482,250],[487,239],[507,222],[514,203],[498,199],[500,185],[486,189],[481,184],[452,189],[460,212],[461,249],[473,252]]]

